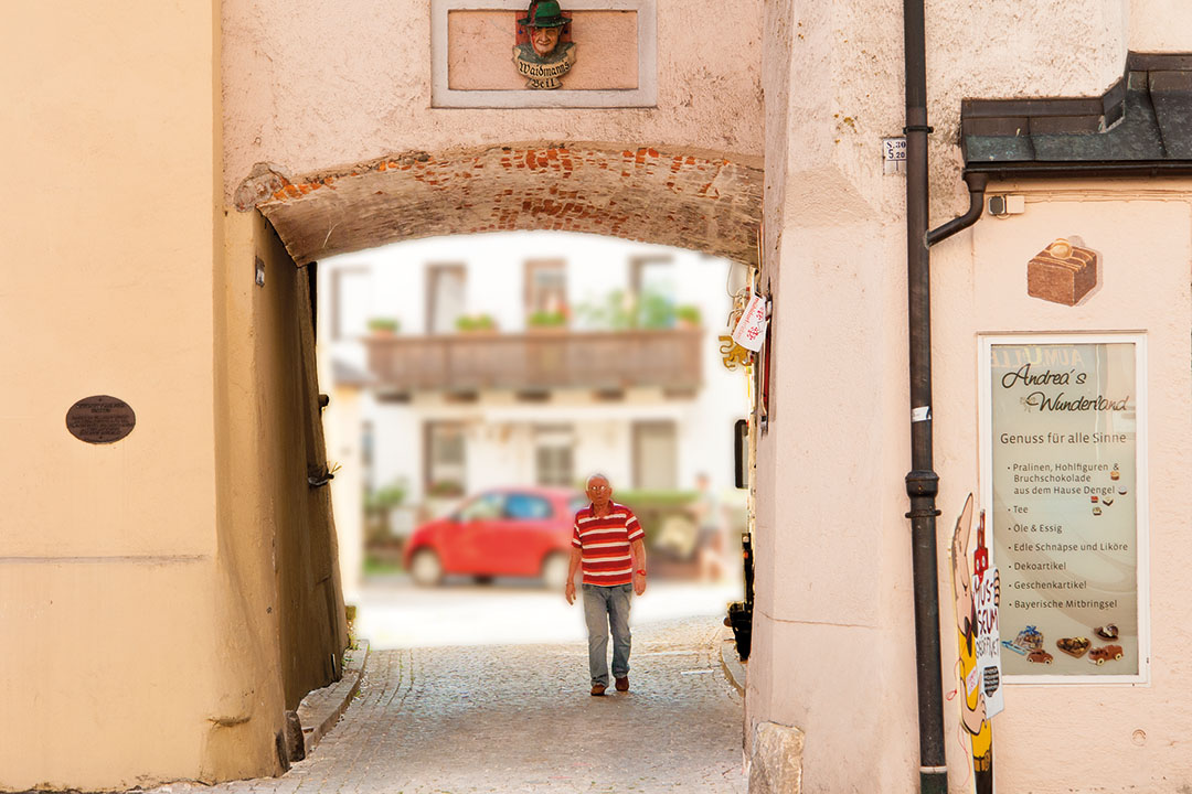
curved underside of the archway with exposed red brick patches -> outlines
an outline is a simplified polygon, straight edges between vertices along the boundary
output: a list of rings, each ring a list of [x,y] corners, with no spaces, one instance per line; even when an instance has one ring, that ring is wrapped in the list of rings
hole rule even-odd
[[[755,263],[756,157],[681,148],[534,143],[401,155],[291,177],[257,164],[236,190],[298,264],[437,235],[564,230]]]

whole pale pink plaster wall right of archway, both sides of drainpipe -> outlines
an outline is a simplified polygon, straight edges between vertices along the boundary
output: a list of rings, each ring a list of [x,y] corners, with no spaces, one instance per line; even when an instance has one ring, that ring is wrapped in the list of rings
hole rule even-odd
[[[1099,95],[1122,75],[1132,40],[1128,23],[1138,17],[1130,6],[929,4],[932,225],[967,206],[956,145],[961,99]],[[803,730],[807,793],[918,786],[904,518],[911,463],[906,181],[882,173],[880,150],[881,138],[905,125],[901,31],[896,0],[766,6],[764,244],[776,286],[774,404],[758,449],[746,736],[762,720]],[[1143,33],[1137,40],[1179,40]],[[1192,790],[1192,762],[1182,752],[1192,634],[1177,606],[1188,596],[1178,570],[1192,562],[1177,540],[1187,524],[1186,511],[1179,517],[1186,490],[1179,482],[1192,448],[1192,186],[1162,183],[1157,196],[1156,185],[1122,186],[1107,199],[1100,198],[1105,185],[1063,186],[1067,194],[1028,204],[1025,215],[986,218],[933,252],[940,561],[963,495],[979,484],[976,335],[1124,329],[1150,340],[1151,684],[1012,687],[994,725],[999,790]],[[1075,310],[1025,293],[1025,262],[1057,236],[1056,227],[1112,252],[1104,287]],[[1131,248],[1138,240],[1148,240],[1149,254]],[[942,564],[943,611],[949,588]],[[955,631],[948,621],[940,631],[948,692],[955,688]],[[944,708],[951,790],[969,790],[958,709],[955,701]],[[1147,734],[1142,744],[1136,730]]]

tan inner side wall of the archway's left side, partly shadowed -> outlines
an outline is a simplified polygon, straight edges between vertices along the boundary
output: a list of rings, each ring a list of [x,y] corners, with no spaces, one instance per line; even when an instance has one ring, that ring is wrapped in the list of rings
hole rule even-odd
[[[339,677],[333,658],[347,631],[330,490],[308,482],[327,463],[309,273],[259,213],[230,212],[226,239],[219,399],[228,421],[219,449],[228,473],[221,477],[221,563],[229,600],[222,608],[228,652],[247,668],[237,675],[267,682],[266,693],[277,689],[237,705],[260,717],[249,730],[268,732],[272,751],[281,712]],[[263,286],[255,283],[256,260]],[[263,752],[261,736],[253,746]]]

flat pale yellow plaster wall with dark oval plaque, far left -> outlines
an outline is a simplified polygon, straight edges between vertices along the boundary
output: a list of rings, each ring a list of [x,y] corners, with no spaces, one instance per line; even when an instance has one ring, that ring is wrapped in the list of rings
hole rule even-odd
[[[0,5],[4,789],[128,788],[200,765],[217,18],[210,0]],[[132,406],[130,436],[66,431],[92,394]]]

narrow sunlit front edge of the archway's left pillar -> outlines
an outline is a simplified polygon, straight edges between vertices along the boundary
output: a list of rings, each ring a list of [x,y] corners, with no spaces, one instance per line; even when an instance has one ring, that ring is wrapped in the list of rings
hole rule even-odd
[[[265,248],[266,226],[254,215],[229,215],[216,296],[216,456],[218,490],[216,611],[219,624],[216,675],[217,718],[204,737],[205,780],[278,774],[283,761],[274,736],[283,726],[286,687],[281,665],[274,494],[262,484],[272,474],[261,424],[267,394],[260,389],[256,342],[259,305],[278,301],[288,281],[255,287],[254,260]],[[278,280],[274,279],[274,282]],[[280,288],[279,288],[280,287]],[[263,326],[263,324],[260,324]],[[272,329],[261,329],[268,338]],[[249,344],[244,344],[249,339]],[[274,354],[278,357],[278,354]],[[260,406],[260,407],[259,407]]]

